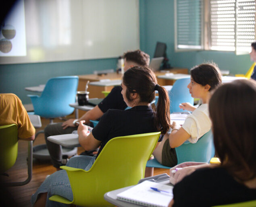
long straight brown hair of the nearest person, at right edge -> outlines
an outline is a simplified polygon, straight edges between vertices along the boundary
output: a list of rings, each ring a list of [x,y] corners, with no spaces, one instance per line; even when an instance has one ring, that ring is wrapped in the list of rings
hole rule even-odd
[[[256,176],[256,82],[223,84],[209,102],[216,155],[240,181]]]

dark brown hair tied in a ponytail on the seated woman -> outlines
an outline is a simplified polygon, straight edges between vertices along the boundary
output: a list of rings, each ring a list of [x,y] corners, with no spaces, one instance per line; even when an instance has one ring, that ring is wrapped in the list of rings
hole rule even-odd
[[[129,68],[123,75],[123,84],[127,87],[125,96],[130,101],[130,94],[134,92],[139,94],[140,102],[151,103],[155,99],[156,75],[147,67]],[[170,101],[167,90],[162,86],[158,86],[158,95],[154,124],[162,134],[165,134],[171,126]]]

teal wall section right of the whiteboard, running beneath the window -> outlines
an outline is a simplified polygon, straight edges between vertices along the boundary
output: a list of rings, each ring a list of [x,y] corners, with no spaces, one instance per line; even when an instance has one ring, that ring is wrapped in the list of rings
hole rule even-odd
[[[140,0],[141,49],[154,55],[157,41],[167,43],[167,55],[171,66],[191,68],[204,61],[214,61],[221,70],[231,74],[245,74],[252,65],[250,55],[235,55],[223,51],[174,50],[174,0]]]

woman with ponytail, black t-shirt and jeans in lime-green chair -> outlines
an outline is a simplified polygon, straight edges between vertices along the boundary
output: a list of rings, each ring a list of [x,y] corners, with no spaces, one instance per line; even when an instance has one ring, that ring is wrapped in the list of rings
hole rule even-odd
[[[167,90],[157,84],[154,72],[143,66],[130,68],[125,72],[121,86],[123,100],[131,109],[109,109],[102,115],[98,125],[89,135],[87,135],[87,126],[83,125],[85,121],[80,121],[78,135],[81,146],[85,150],[92,150],[100,146],[100,150],[94,157],[72,157],[67,166],[89,170],[106,143],[114,137],[156,131],[161,131],[162,134],[167,133],[170,127],[169,97]],[[155,90],[159,94],[156,112],[150,106],[155,98]],[[102,170],[104,173],[104,169]],[[59,170],[46,178],[32,196],[32,203],[34,206],[54,205],[56,204],[54,201],[48,200],[52,195],[60,195],[73,200],[69,178],[65,170]]]

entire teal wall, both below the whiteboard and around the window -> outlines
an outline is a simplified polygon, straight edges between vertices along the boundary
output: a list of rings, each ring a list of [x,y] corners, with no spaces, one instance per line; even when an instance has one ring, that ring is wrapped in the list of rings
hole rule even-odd
[[[249,55],[220,51],[174,51],[173,0],[140,0],[140,49],[152,57],[157,41],[167,43],[171,66],[191,68],[203,61],[214,61],[221,70],[242,73],[252,65]],[[91,74],[94,70],[115,69],[117,58],[36,64],[0,65],[0,93],[15,93],[23,104],[31,103],[27,86],[45,84],[54,76]]]

